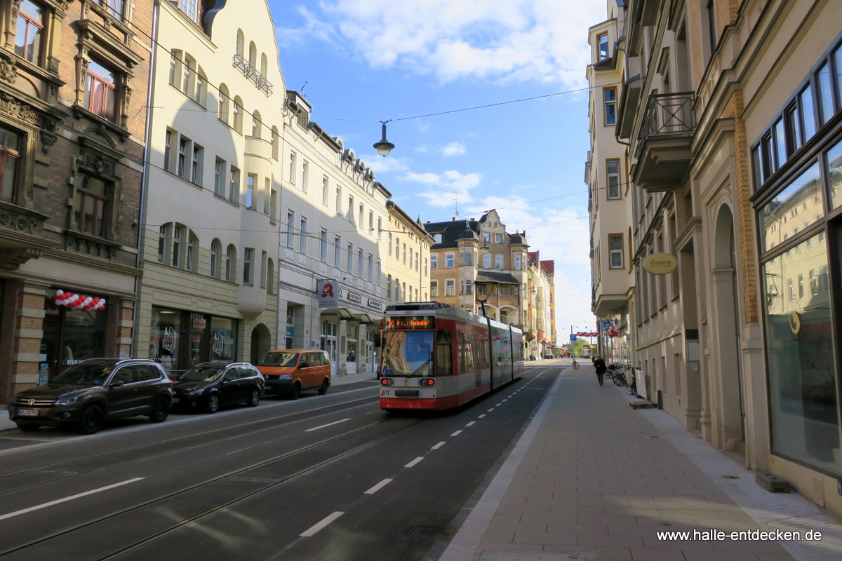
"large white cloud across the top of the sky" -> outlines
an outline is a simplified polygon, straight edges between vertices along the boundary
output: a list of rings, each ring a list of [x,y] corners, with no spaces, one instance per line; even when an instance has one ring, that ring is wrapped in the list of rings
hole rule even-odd
[[[466,77],[584,85],[587,29],[605,3],[578,0],[324,0],[306,26],[279,38],[343,37],[370,66],[401,66],[440,82]]]

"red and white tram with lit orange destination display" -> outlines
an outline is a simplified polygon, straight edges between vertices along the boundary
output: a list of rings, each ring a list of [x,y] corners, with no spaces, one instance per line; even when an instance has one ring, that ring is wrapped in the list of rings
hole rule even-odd
[[[516,327],[440,302],[386,307],[382,410],[451,409],[523,373],[523,332]]]

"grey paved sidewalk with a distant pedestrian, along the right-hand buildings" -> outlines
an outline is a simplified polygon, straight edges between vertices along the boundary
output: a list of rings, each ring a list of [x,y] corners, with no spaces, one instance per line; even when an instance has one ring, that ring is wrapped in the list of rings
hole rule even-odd
[[[568,365],[568,361],[545,364]],[[819,561],[842,526],[754,474],[626,388],[564,368],[440,561]],[[738,479],[731,479],[737,477]],[[799,531],[821,541],[658,539],[657,532]]]

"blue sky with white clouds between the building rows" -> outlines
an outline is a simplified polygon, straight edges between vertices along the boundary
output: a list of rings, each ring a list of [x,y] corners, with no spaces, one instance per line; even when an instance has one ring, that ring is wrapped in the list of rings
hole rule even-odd
[[[557,342],[590,331],[581,0],[269,0],[285,87],[422,222],[497,209],[555,262]],[[392,154],[378,156],[381,121]],[[458,214],[457,214],[458,213]]]

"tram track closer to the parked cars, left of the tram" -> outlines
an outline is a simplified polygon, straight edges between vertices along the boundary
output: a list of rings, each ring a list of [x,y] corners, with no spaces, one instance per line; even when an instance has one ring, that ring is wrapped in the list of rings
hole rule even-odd
[[[56,481],[61,481],[61,479],[69,479],[81,474],[95,474],[98,471],[103,471],[105,469],[120,467],[126,463],[136,462],[139,457],[145,459],[165,458],[173,453],[183,453],[185,450],[199,449],[208,445],[205,440],[212,440],[212,442],[218,444],[242,437],[243,432],[249,432],[250,434],[259,434],[261,432],[278,433],[278,422],[297,422],[305,420],[314,421],[322,416],[354,409],[355,407],[366,405],[373,401],[376,401],[376,397],[348,400],[339,404],[324,405],[311,410],[302,410],[282,415],[263,417],[255,421],[238,423],[237,425],[221,426],[206,431],[190,432],[189,434],[185,434],[183,436],[165,438],[163,440],[157,440],[155,442],[149,442],[138,446],[121,447],[119,450],[113,450],[107,453],[89,454],[81,458],[73,458],[72,460],[45,463],[40,466],[29,466],[7,474],[0,474],[0,499],[3,498],[3,495],[37,487],[41,484],[56,483]],[[249,429],[252,429],[255,426],[258,426],[257,430],[249,431]],[[226,437],[212,438],[226,432],[232,432],[232,434]],[[197,439],[202,440],[202,442],[195,442]],[[186,447],[181,446],[185,442],[188,443],[188,445]],[[72,442],[67,442],[67,444],[70,443]],[[147,450],[155,448],[164,449],[157,453],[144,453]],[[25,449],[21,449],[20,451],[23,452]],[[7,454],[16,452],[19,451],[12,450]],[[108,461],[109,458],[118,458],[120,456],[125,456],[126,458],[118,459],[117,461]],[[83,465],[82,467],[79,467],[79,464],[85,463],[99,464],[99,467],[85,468]],[[31,476],[32,474],[50,474],[50,479],[38,480],[29,484],[19,484],[14,481],[14,478],[16,477]]]

